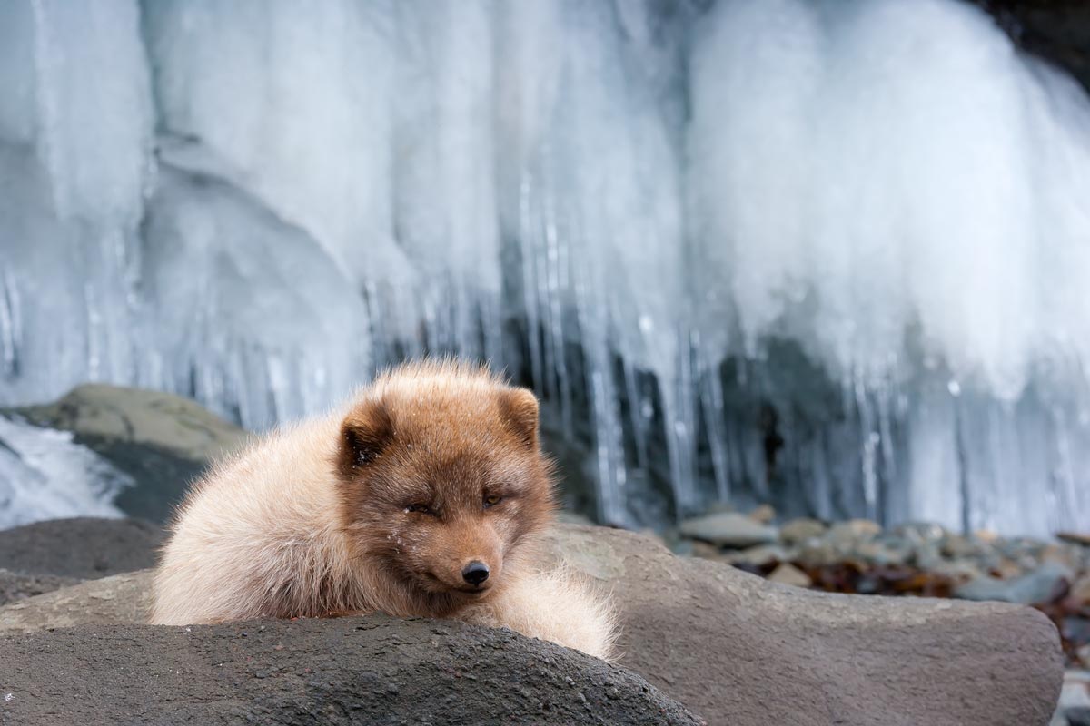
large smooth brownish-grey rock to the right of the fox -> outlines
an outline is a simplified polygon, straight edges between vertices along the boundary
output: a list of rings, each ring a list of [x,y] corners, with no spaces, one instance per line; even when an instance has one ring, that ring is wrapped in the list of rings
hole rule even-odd
[[[1058,635],[1029,607],[800,590],[621,530],[556,540],[611,590],[621,663],[712,724],[1036,726],[1059,694]]]

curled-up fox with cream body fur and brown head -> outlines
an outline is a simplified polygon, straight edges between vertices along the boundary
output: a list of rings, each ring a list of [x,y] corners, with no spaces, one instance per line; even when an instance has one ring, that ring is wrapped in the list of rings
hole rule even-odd
[[[408,364],[193,487],[150,622],[383,612],[508,627],[608,659],[607,600],[545,567],[553,488],[530,391],[482,368]]]

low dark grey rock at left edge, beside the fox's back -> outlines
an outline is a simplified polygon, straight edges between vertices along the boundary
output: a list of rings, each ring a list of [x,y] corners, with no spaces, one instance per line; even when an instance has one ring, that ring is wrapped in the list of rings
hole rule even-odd
[[[0,567],[88,579],[152,567],[164,532],[138,519],[76,517],[0,531]]]

